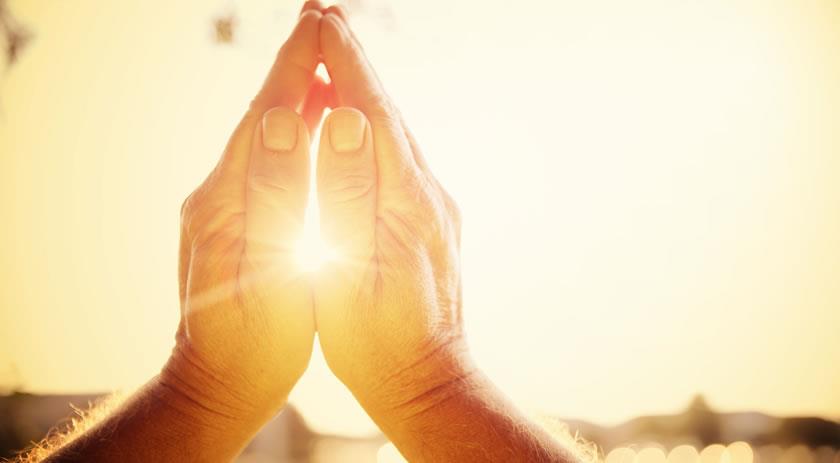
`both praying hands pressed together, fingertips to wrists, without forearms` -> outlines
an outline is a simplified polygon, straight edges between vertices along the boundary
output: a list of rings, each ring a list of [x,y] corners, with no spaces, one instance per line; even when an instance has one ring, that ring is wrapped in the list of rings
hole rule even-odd
[[[469,373],[457,208],[344,11],[308,5],[221,161],[182,208],[182,317],[163,377],[208,403],[224,398],[208,405],[224,413],[281,407],[316,330],[331,369],[363,403],[397,407]],[[321,59],[329,86],[314,76]],[[315,180],[337,258],[310,281],[293,253],[308,136],[327,105],[338,108],[323,123]],[[284,124],[296,129],[269,130]],[[284,136],[296,138],[292,148],[269,146]]]

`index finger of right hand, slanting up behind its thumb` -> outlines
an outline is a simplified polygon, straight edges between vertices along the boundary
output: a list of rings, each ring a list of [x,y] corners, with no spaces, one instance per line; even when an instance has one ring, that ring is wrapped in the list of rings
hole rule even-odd
[[[341,18],[324,15],[320,41],[337,103],[359,108],[370,121],[382,193],[399,190],[415,179],[417,166],[396,110]]]

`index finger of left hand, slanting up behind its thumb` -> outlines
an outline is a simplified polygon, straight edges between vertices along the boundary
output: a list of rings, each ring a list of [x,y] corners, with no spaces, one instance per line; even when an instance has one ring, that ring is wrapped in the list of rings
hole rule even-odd
[[[222,176],[240,188],[248,173],[248,154],[254,129],[269,108],[285,106],[297,109],[303,101],[318,64],[320,11],[305,10],[289,39],[277,53],[262,89],[251,102],[233,133],[219,163]]]

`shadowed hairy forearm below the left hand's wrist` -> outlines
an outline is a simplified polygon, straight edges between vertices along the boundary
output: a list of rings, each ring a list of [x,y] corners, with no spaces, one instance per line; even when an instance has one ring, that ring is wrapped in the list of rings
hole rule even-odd
[[[263,421],[220,413],[156,377],[43,461],[230,461]]]

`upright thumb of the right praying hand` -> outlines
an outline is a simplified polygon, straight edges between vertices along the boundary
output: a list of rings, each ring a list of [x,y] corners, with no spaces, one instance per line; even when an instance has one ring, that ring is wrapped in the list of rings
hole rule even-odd
[[[340,262],[364,266],[373,255],[377,194],[367,118],[353,108],[334,110],[324,121],[319,146],[321,233]]]

